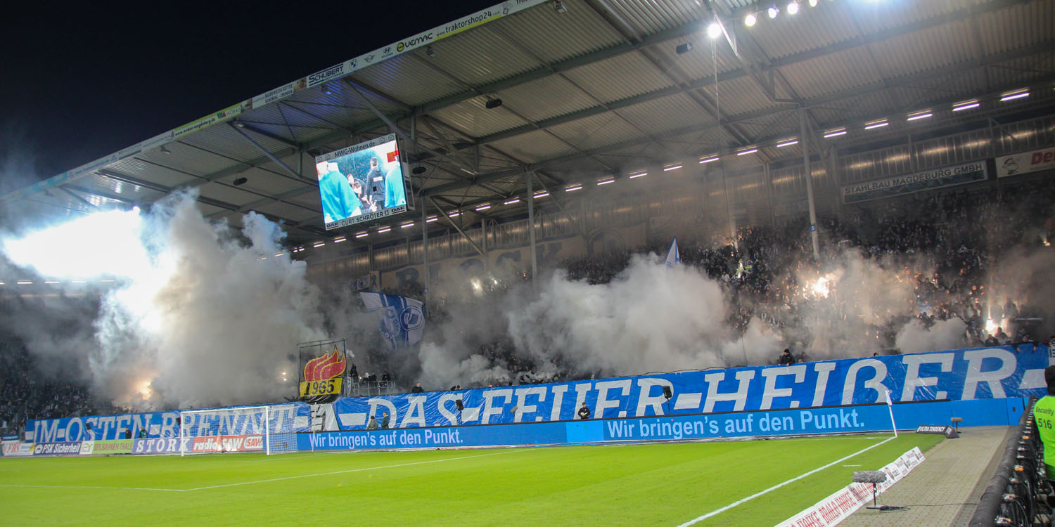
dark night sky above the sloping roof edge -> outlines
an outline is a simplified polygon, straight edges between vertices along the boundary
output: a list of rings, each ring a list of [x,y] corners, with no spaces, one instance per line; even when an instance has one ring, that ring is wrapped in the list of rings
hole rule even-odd
[[[0,194],[497,3],[7,3]]]

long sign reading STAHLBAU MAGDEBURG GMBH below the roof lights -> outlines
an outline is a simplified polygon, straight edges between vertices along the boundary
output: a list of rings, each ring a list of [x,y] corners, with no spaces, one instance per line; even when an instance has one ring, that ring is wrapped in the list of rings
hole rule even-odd
[[[856,203],[869,199],[880,199],[937,189],[939,187],[984,181],[987,177],[989,169],[985,161],[943,167],[941,169],[917,172],[916,174],[843,186],[843,202]]]

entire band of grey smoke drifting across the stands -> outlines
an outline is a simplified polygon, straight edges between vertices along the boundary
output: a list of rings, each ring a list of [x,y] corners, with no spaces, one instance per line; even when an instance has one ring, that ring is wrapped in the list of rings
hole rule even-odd
[[[282,401],[295,389],[296,344],[328,337],[348,338],[360,373],[387,371],[399,386],[426,389],[764,365],[785,347],[813,360],[861,356],[884,336],[902,352],[971,344],[961,311],[917,317],[936,308],[921,284],[933,276],[940,296],[939,275],[955,274],[940,256],[869,255],[831,238],[814,264],[804,243],[784,251],[773,236],[754,249],[711,251],[735,254],[717,264],[699,257],[668,268],[655,254],[628,255],[599,284],[564,269],[545,270],[534,288],[520,275],[448,277],[429,298],[421,344],[389,350],[354,296],[275,257],[287,252],[280,226],[253,213],[244,223],[210,222],[193,195],[178,195],[149,212],[7,233],[5,265],[16,267],[4,276],[32,270],[59,280],[62,294],[16,300],[2,321],[43,373],[82,378],[98,396],[137,409]],[[1003,295],[1052,297],[1042,279],[1050,250],[1006,255],[989,270],[1015,277],[999,284]],[[774,270],[751,281],[763,265]],[[481,289],[481,280],[496,287]]]

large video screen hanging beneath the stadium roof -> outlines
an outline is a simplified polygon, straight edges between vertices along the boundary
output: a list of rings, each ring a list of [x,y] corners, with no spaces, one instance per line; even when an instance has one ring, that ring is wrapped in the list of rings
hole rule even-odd
[[[396,134],[315,157],[326,230],[414,209]]]

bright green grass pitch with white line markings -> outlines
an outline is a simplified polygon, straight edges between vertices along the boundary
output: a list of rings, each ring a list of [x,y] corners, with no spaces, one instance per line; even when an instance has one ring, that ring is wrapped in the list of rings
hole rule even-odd
[[[0,524],[673,527],[889,437],[3,458]],[[942,438],[902,434],[696,525],[774,525]]]

